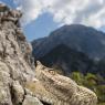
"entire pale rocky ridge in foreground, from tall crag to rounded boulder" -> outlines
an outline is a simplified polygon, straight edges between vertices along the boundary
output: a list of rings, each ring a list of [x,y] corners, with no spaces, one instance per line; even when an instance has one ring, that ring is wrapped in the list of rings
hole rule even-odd
[[[35,69],[21,17],[0,3],[0,105],[96,105],[92,91],[40,63]]]

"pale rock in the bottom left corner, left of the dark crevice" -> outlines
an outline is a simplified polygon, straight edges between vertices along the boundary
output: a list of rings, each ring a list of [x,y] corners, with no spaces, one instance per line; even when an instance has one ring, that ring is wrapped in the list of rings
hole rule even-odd
[[[8,67],[3,63],[0,63],[0,105],[12,105],[10,84],[11,78]]]

